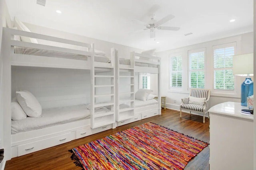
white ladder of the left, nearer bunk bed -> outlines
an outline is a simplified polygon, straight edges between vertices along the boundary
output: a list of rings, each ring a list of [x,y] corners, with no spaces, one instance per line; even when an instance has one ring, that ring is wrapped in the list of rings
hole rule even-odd
[[[111,55],[114,55],[112,50]],[[96,64],[97,62],[94,61],[94,56],[91,58],[91,128],[106,128],[108,125],[112,125],[114,129],[116,127],[115,67],[109,66],[103,68]],[[113,56],[111,56],[111,58],[113,58]],[[109,110],[107,111],[106,109]]]

